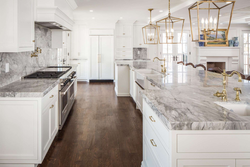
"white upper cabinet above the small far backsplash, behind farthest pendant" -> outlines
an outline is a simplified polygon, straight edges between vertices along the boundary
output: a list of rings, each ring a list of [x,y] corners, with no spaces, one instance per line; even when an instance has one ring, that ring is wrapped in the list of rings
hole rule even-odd
[[[144,44],[141,25],[134,25],[134,47],[135,48],[147,48],[148,45]]]

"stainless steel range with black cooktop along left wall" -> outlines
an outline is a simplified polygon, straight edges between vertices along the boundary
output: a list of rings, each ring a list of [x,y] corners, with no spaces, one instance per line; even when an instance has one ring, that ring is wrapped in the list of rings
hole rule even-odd
[[[59,85],[59,129],[61,130],[69,112],[75,101],[76,72],[66,73],[71,69],[70,66],[50,66],[43,70],[27,75],[24,79],[53,79],[60,78]],[[66,75],[66,76],[65,76]]]

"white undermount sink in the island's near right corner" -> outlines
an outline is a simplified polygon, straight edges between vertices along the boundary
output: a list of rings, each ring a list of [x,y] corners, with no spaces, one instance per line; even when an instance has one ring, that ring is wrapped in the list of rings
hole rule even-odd
[[[215,102],[240,116],[250,116],[250,105],[246,103]]]

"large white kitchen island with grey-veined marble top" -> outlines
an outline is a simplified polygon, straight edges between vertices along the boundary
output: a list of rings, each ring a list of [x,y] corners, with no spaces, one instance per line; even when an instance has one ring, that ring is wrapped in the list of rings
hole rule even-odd
[[[167,75],[160,73],[159,63],[130,62],[127,66],[135,73],[148,69],[160,74],[139,82],[144,87],[140,90],[142,167],[250,166],[249,81],[238,82],[237,75],[227,78],[228,102],[222,102],[214,96],[223,89],[221,74],[176,62],[169,64]],[[235,101],[234,87],[242,90],[240,102]]]

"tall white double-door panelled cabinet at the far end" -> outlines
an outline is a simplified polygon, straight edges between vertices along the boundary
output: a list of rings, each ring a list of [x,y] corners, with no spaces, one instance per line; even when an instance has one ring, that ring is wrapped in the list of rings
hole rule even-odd
[[[114,37],[90,36],[90,80],[114,79]]]

